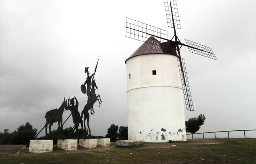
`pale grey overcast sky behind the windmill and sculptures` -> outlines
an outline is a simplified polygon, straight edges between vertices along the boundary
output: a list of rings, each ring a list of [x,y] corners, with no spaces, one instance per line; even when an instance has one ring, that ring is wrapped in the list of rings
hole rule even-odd
[[[182,47],[199,132],[256,129],[256,1],[177,0],[178,37],[212,47],[218,60]],[[0,132],[29,121],[38,130],[50,109],[76,96],[85,67],[95,74],[102,106],[90,117],[92,135],[111,123],[127,126],[126,65],[143,42],[125,37],[126,17],[168,30],[163,0],[1,0]],[[65,111],[66,119],[70,111]],[[64,127],[73,126],[69,119]],[[56,128],[57,124],[53,126]],[[44,131],[39,135],[44,135]],[[254,135],[256,136],[256,135]]]

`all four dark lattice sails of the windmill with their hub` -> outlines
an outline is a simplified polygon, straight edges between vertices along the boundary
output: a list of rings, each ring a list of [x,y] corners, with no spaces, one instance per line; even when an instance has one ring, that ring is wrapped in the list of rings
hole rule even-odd
[[[191,98],[191,92],[189,88],[189,82],[187,77],[187,71],[185,67],[184,59],[180,55],[180,48],[186,46],[189,48],[189,52],[205,56],[217,60],[212,48],[205,45],[184,39],[186,44],[182,43],[177,37],[176,28],[181,29],[180,26],[180,17],[177,8],[176,0],[164,0],[165,4],[165,13],[167,18],[168,27],[174,29],[174,36],[169,40],[167,38],[167,31],[162,30],[161,28],[156,28],[148,24],[136,21],[134,19],[126,18],[126,37],[139,41],[147,41],[151,36],[155,37],[158,41],[170,42],[170,48],[175,47],[178,52],[178,63],[180,68],[180,78],[182,81],[182,88],[184,93],[184,99],[186,104],[186,109],[189,111],[194,111],[193,101]],[[173,41],[174,39],[174,41]]]

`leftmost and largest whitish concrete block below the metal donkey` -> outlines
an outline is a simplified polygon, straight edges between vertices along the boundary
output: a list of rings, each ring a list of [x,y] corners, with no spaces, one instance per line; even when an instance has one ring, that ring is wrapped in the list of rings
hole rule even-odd
[[[44,153],[52,151],[52,140],[30,140],[29,152],[32,153]]]

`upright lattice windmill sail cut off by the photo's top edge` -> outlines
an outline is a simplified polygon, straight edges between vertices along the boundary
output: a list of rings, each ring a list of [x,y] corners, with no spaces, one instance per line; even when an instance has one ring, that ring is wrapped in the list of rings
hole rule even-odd
[[[181,29],[176,0],[164,0],[164,3],[168,27],[174,28],[175,26],[175,28]]]

